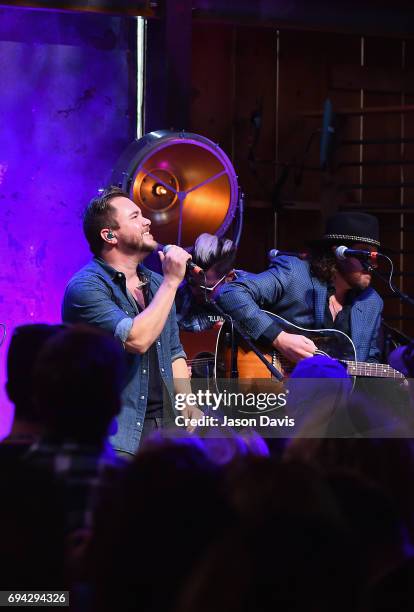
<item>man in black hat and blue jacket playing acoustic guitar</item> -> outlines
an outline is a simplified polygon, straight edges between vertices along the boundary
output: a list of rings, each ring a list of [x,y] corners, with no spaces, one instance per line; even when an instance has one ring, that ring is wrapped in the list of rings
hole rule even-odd
[[[265,272],[225,285],[217,302],[253,340],[273,345],[291,362],[312,356],[317,347],[305,336],[283,331],[262,309],[300,327],[345,332],[358,361],[377,362],[382,299],[370,287],[371,274],[363,262],[336,255],[339,246],[376,251],[377,219],[359,212],[337,213],[328,219],[324,236],[309,245],[308,260],[276,257]]]

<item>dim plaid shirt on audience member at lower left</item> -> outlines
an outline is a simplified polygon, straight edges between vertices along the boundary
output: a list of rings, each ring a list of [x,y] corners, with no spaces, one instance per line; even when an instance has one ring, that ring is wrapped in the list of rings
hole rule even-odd
[[[46,439],[33,444],[23,461],[53,474],[62,487],[67,533],[92,527],[94,510],[104,489],[115,482],[126,465],[109,444],[102,449]]]

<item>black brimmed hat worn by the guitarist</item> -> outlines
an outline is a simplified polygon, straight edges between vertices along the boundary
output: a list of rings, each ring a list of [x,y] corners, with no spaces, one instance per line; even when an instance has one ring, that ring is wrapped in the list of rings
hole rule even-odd
[[[309,246],[363,242],[381,246],[378,219],[367,213],[340,212],[329,217],[322,238],[308,241]]]

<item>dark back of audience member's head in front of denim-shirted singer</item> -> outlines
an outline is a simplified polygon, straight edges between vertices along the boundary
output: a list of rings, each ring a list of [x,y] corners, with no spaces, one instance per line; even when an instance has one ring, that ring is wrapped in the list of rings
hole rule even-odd
[[[46,429],[62,438],[99,441],[121,408],[125,354],[108,332],[73,325],[50,338],[34,371],[34,398]]]

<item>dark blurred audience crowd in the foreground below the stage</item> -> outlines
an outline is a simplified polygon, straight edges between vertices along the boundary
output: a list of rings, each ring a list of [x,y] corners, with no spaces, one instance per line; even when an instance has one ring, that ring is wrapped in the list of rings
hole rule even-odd
[[[304,360],[294,378],[314,359],[325,372],[308,398],[317,403],[323,360]],[[399,418],[355,394],[347,414],[380,422],[381,436],[356,435],[360,422],[353,435],[273,443],[166,431],[127,462],[107,440],[123,360],[99,329],[15,330],[15,418],[0,444],[2,590],[68,590],[85,612],[413,610],[414,442]]]

